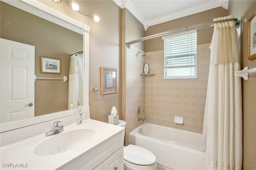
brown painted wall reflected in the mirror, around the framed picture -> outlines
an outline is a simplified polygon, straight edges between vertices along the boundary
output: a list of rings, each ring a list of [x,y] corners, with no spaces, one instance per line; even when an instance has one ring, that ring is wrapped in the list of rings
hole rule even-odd
[[[35,46],[35,75],[62,78],[69,74],[70,54],[83,50],[83,35],[1,3],[1,38]],[[72,42],[72,43],[71,43]],[[40,73],[40,56],[61,59],[61,74]],[[35,116],[68,109],[68,81],[35,81]]]

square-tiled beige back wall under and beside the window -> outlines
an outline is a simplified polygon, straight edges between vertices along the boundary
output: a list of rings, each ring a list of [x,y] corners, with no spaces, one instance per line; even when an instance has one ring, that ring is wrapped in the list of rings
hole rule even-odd
[[[197,46],[196,79],[164,79],[164,50],[146,53],[150,73],[155,73],[146,75],[147,122],[202,133],[210,64],[209,45]],[[174,123],[174,116],[183,117],[184,123]]]

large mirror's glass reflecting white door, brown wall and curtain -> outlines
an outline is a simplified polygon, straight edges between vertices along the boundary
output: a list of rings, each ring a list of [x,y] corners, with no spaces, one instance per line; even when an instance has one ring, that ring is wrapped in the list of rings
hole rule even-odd
[[[0,2],[0,17],[1,123],[65,111],[70,109],[72,102],[74,102],[74,109],[77,108],[77,105],[84,105],[84,75],[81,59],[79,59],[79,62],[82,62],[79,66],[80,75],[72,75],[74,71],[71,71],[72,77],[70,77],[70,61],[72,61],[70,55],[83,51],[84,36],[2,1]],[[3,43],[7,46],[4,46]],[[8,50],[2,50],[2,47],[8,49],[13,45],[15,47],[10,48],[12,49],[10,53]],[[32,58],[26,58],[26,52],[22,52],[27,51],[27,47],[29,48],[28,53],[32,54],[29,57]],[[78,56],[83,56],[82,52],[79,54]],[[3,59],[10,55],[12,55],[12,59],[16,58],[17,60]],[[51,70],[49,73],[40,73],[41,67],[45,67],[45,63],[41,63],[40,56],[50,57],[53,61],[60,59],[60,74],[51,72]],[[32,61],[32,63],[23,63],[23,59]],[[34,75],[47,78],[66,76],[68,81],[52,79],[35,81]],[[81,78],[79,79],[79,77]],[[68,99],[70,95],[74,94],[74,89],[72,93],[69,92],[69,86],[72,83],[70,80],[79,82],[73,84],[81,86],[75,89],[79,90],[80,95],[76,94],[77,97],[73,100]],[[30,106],[29,103],[33,105],[30,104]]]

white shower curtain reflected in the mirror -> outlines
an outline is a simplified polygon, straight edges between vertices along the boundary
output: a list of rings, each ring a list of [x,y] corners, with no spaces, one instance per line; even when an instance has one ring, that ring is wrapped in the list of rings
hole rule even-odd
[[[68,80],[68,109],[71,105],[76,109],[83,105],[83,65],[79,55],[73,54],[70,58]],[[82,93],[79,93],[82,92]]]

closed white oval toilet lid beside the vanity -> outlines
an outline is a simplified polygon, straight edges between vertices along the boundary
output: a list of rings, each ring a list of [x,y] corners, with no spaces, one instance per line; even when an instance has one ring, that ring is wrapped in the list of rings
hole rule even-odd
[[[124,160],[136,165],[152,165],[156,162],[156,156],[145,148],[129,144],[124,147]]]

